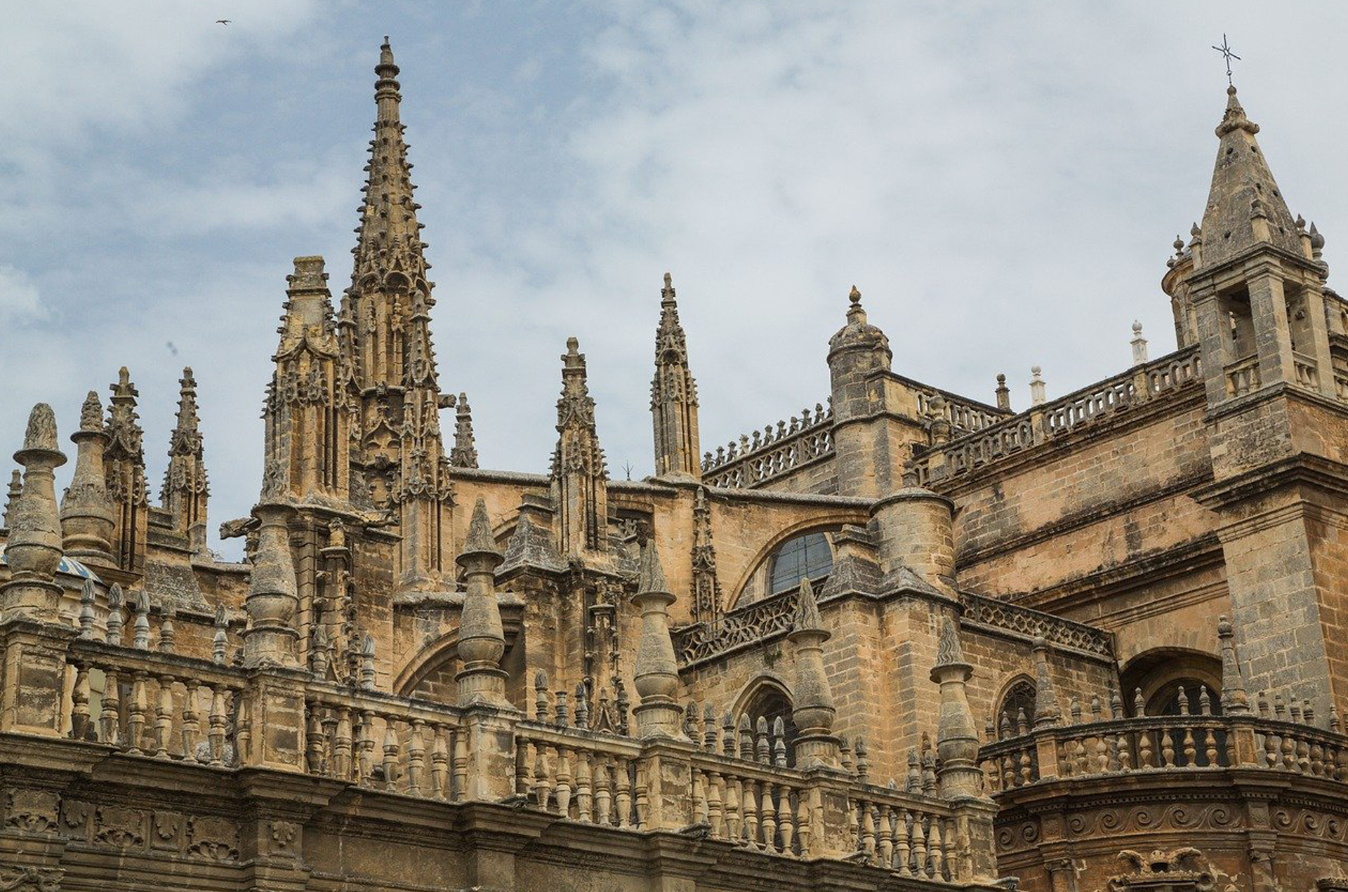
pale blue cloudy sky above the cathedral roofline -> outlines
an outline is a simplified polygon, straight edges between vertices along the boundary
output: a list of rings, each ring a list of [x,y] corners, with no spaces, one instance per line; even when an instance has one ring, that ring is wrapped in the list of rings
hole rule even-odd
[[[1289,197],[1348,237],[1348,5],[0,0],[0,453],[127,365],[152,497],[183,365],[221,521],[262,481],[291,259],[350,276],[388,35],[441,384],[484,468],[545,472],[568,336],[611,473],[651,472],[661,279],[702,447],[824,402],[852,284],[894,369],[1029,403],[1123,371],[1202,216],[1235,79]],[[217,24],[228,19],[229,24]],[[1330,284],[1335,278],[1330,276]],[[442,419],[453,430],[452,410]],[[71,462],[58,472],[69,480]]]

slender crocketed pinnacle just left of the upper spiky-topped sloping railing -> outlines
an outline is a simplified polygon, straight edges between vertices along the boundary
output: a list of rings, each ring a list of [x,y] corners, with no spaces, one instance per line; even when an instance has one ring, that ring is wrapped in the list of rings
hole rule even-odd
[[[687,341],[678,321],[674,283],[667,272],[661,290],[661,323],[655,330],[651,418],[655,424],[655,476],[698,480],[702,468],[698,461],[697,383],[687,365]]]

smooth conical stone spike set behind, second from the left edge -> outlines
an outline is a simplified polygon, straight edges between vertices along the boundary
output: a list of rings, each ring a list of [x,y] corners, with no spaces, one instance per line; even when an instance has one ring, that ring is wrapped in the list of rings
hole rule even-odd
[[[75,468],[61,499],[63,548],[71,558],[112,565],[113,508],[104,469],[108,433],[102,428],[102,403],[97,391],[89,391],[85,397],[80,430],[70,439],[75,445]]]

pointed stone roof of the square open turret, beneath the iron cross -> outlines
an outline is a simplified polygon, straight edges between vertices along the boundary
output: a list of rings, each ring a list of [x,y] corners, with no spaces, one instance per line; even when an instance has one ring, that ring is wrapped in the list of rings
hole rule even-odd
[[[1212,267],[1256,244],[1301,256],[1297,225],[1255,139],[1259,125],[1246,116],[1236,88],[1227,88],[1227,110],[1217,125],[1217,162],[1202,212],[1202,265]]]

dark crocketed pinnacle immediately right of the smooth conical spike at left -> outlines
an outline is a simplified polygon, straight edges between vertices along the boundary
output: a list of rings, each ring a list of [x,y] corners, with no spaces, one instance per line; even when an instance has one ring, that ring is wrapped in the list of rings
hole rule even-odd
[[[117,372],[117,383],[111,389],[104,473],[108,499],[113,505],[113,555],[120,569],[140,573],[146,566],[150,521],[144,431],[136,415],[136,397],[140,393],[131,383],[127,367],[121,367]]]

